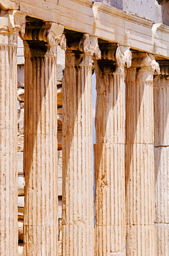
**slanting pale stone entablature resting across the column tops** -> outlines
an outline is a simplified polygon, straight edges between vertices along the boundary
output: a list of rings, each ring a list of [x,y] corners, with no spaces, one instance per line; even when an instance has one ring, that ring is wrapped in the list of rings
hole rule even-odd
[[[41,12],[43,9],[43,12]],[[20,10],[39,19],[63,24],[66,29],[89,33],[130,48],[169,57],[169,28],[105,3],[64,0],[57,3],[21,1]],[[83,22],[85,21],[85,23]]]

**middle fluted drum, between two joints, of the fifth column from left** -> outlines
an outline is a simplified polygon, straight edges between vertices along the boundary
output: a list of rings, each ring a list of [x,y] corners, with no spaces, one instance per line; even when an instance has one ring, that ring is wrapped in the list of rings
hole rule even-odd
[[[155,223],[154,148],[126,145],[126,207],[128,225]]]

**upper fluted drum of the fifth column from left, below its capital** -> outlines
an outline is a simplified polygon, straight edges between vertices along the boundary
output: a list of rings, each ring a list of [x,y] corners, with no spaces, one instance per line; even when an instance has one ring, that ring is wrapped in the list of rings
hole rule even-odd
[[[153,87],[152,84],[141,86],[140,82],[145,79],[143,75],[145,74],[140,73],[140,79],[136,84],[136,73],[133,72],[130,86],[126,88],[126,93],[130,98],[126,103],[126,140],[128,143],[153,143],[154,141],[154,115],[150,115],[150,109],[152,111],[153,106]],[[136,96],[131,97],[131,95]],[[137,100],[138,98],[140,101]]]

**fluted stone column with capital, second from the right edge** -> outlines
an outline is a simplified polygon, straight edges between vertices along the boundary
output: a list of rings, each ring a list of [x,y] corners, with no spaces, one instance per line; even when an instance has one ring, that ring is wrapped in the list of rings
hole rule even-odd
[[[127,255],[156,255],[153,74],[147,53],[133,55],[126,83]]]

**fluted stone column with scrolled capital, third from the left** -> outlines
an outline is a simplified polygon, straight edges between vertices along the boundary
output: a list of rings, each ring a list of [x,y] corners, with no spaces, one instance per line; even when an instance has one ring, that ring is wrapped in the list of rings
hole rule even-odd
[[[83,53],[66,51],[63,83],[63,256],[94,255],[92,56],[99,57],[97,39],[84,34],[79,50]]]

